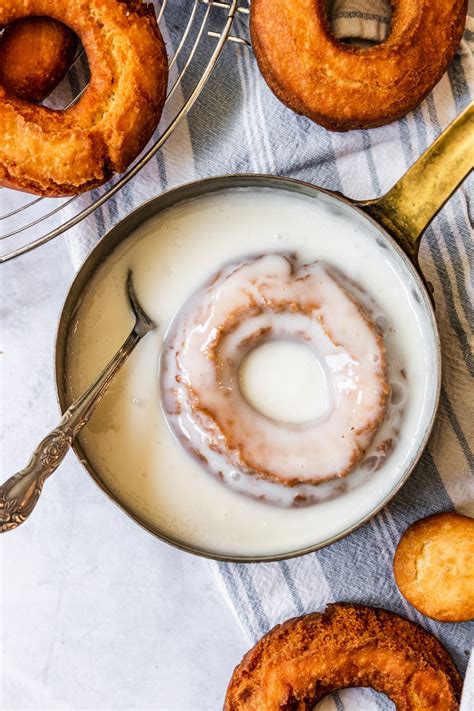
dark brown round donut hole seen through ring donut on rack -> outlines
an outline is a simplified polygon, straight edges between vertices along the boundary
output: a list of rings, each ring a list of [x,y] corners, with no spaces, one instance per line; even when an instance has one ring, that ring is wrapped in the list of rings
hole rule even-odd
[[[43,101],[64,78],[77,36],[50,17],[28,17],[5,27],[0,37],[0,84],[30,103]]]

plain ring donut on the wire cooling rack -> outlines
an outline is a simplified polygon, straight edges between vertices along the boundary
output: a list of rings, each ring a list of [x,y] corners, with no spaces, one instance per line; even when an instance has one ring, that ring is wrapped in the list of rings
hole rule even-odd
[[[34,106],[0,85],[0,184],[69,195],[123,172],[153,133],[168,63],[152,5],[120,0],[2,0],[0,25],[50,15],[79,38],[91,80],[64,111]]]

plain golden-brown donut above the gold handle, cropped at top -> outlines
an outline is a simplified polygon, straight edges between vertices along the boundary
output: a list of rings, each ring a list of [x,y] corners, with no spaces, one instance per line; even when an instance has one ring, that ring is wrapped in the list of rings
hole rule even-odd
[[[332,131],[390,123],[439,81],[464,29],[467,0],[392,0],[382,44],[349,46],[328,29],[324,0],[252,0],[252,47],[276,96]]]

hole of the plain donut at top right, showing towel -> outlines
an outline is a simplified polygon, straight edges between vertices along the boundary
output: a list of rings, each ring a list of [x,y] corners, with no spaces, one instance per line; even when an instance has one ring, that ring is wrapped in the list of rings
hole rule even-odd
[[[389,0],[377,0],[376,12],[358,10],[351,0],[326,0],[329,32],[342,44],[368,49],[387,39],[392,21]]]

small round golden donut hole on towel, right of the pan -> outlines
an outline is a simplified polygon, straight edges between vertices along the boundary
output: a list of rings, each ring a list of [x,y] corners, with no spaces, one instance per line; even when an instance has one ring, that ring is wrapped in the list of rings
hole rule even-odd
[[[440,622],[474,619],[474,519],[441,513],[416,521],[400,539],[393,573],[423,615]]]

